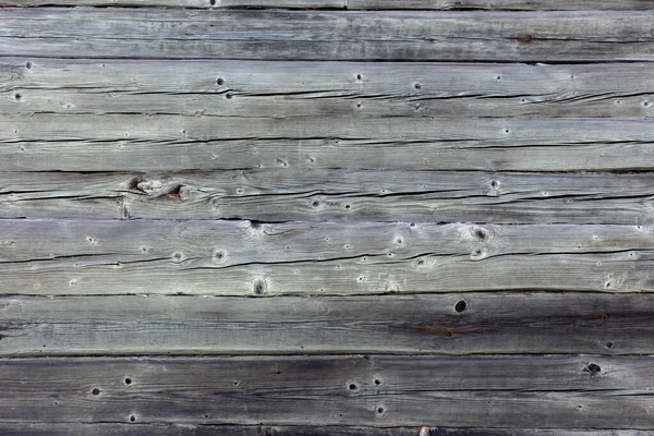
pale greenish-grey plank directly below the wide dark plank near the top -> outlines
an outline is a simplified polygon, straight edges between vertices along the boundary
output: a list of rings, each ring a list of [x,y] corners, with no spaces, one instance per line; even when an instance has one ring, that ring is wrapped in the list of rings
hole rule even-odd
[[[637,63],[482,65],[5,58],[0,60],[0,93],[4,97],[0,99],[0,113],[654,116],[654,74],[651,65]]]

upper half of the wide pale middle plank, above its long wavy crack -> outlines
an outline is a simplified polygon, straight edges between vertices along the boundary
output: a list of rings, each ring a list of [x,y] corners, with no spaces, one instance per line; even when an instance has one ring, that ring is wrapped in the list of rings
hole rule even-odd
[[[174,261],[174,253],[187,266],[204,259],[227,268],[247,262],[363,256],[405,261],[431,254],[482,261],[520,254],[633,252],[635,256],[638,251],[646,257],[646,252],[654,251],[654,229],[642,226],[3,219],[0,234],[1,263],[47,261],[51,265],[76,259],[82,261],[80,266],[107,259],[125,264]],[[476,254],[479,250],[483,255]]]

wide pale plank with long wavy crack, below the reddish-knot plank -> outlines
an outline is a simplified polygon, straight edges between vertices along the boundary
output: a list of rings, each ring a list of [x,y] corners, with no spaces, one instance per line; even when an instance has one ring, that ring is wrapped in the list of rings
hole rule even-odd
[[[5,294],[654,291],[642,226],[0,223]]]

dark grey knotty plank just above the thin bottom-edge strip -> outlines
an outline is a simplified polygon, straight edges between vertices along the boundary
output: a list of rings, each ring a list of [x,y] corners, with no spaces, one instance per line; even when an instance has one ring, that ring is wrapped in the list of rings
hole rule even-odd
[[[11,360],[0,362],[0,420],[651,428],[651,359],[596,359]],[[626,388],[634,372],[642,383]],[[494,379],[502,390],[473,390]],[[566,390],[531,391],[538,380]],[[507,390],[517,385],[526,389]],[[617,389],[592,390],[607,385]]]

